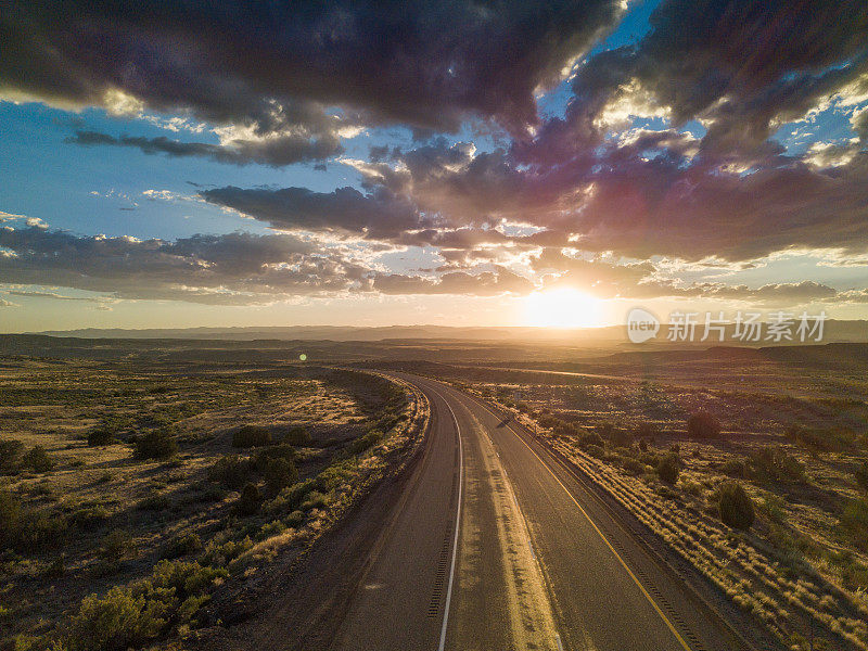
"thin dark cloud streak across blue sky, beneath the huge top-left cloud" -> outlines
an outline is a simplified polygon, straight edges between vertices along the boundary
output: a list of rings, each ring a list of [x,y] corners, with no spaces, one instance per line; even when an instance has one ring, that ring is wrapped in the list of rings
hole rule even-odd
[[[210,158],[217,163],[248,165],[259,163],[271,167],[281,167],[303,161],[317,161],[341,154],[344,150],[340,139],[334,135],[324,135],[319,139],[306,136],[277,136],[261,140],[235,139],[227,143],[209,144],[205,142],[180,142],[164,136],[141,138],[120,136],[115,138],[98,131],[76,131],[67,143],[91,145],[129,146],[141,150],[145,154],[166,154],[174,157],[196,156]]]

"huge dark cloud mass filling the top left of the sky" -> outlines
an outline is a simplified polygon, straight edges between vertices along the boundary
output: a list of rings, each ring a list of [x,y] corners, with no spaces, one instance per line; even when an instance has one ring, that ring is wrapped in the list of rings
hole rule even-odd
[[[613,0],[16,3],[0,18],[0,88],[79,105],[119,89],[264,131],[321,123],[322,105],[522,130],[536,122],[534,91],[621,13]]]

